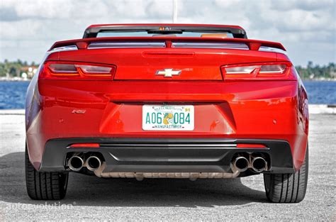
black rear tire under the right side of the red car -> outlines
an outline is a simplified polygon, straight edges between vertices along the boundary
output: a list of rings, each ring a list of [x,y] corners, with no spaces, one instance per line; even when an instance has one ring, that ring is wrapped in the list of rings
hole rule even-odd
[[[300,170],[293,174],[264,174],[266,196],[274,203],[298,203],[306,195],[308,183],[308,145]]]

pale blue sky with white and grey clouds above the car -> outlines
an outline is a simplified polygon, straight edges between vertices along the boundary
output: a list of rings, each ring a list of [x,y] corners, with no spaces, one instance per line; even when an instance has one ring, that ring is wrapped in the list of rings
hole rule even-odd
[[[336,62],[335,0],[177,0],[177,23],[242,26],[281,42],[296,65]],[[94,23],[171,23],[172,0],[0,0],[0,60],[40,62],[57,40]]]

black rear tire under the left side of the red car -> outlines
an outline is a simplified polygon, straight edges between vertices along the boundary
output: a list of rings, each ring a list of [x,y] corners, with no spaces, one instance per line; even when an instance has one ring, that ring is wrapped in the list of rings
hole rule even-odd
[[[26,147],[26,187],[35,200],[60,200],[67,192],[68,173],[38,172],[29,161]]]

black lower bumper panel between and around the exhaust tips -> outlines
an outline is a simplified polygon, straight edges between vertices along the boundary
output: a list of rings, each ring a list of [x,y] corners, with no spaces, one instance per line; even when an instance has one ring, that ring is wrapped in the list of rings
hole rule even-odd
[[[74,143],[99,143],[99,148],[69,148]],[[265,148],[237,148],[237,144]],[[251,146],[253,147],[253,146]],[[270,173],[294,172],[291,147],[285,140],[185,138],[62,138],[48,140],[40,171],[67,170],[72,152],[100,152],[103,172],[232,172],[230,162],[240,152],[269,157]]]

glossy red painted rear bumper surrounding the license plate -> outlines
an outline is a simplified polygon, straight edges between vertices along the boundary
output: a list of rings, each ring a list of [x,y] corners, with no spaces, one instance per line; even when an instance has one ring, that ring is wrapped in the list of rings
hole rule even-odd
[[[305,157],[308,139],[308,109],[300,90],[297,81],[157,81],[155,84],[144,81],[95,81],[88,84],[85,81],[45,80],[39,82],[36,95],[32,97],[35,100],[26,111],[30,162],[36,170],[43,169],[46,163],[43,155],[50,152],[45,148],[48,149],[50,143],[54,143],[52,141],[65,141],[64,145],[55,145],[54,148],[60,152],[70,152],[62,150],[72,140],[67,138],[88,138],[78,139],[79,143],[83,143],[81,140],[103,143],[96,138],[106,138],[102,139],[106,143],[116,140],[111,138],[125,138],[121,140],[126,141],[136,138],[267,139],[288,142],[289,145],[284,146],[291,148],[289,155],[298,170]],[[194,106],[194,130],[144,131],[142,106],[148,104]],[[271,149],[271,146],[268,147]],[[100,148],[106,150],[103,151],[106,155],[109,149],[115,148]],[[172,153],[172,150],[166,150],[167,153],[161,147],[160,153]],[[223,157],[228,150],[221,151]],[[140,151],[142,153],[143,150]],[[178,151],[175,149],[174,152]],[[202,155],[207,156],[208,153]],[[223,165],[220,166],[223,169]],[[273,170],[276,169],[274,167]]]

